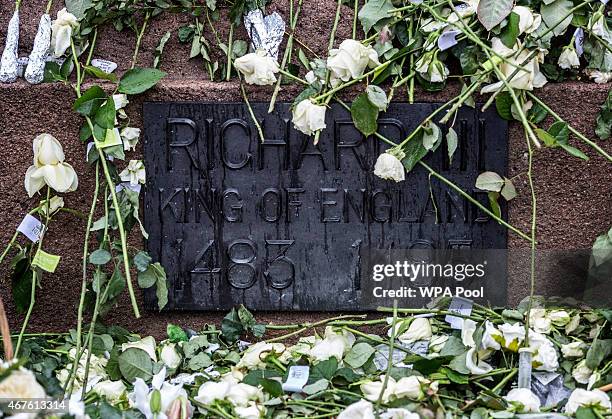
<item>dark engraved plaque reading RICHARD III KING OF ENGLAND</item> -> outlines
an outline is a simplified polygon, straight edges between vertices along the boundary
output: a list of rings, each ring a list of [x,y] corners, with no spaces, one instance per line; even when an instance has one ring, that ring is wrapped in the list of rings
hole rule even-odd
[[[360,255],[369,248],[506,248],[504,227],[423,168],[402,183],[374,176],[387,146],[364,139],[340,106],[318,146],[293,129],[288,104],[267,106],[253,104],[261,144],[243,104],[144,104],[145,226],[168,273],[169,309],[368,310]],[[398,142],[437,106],[393,103],[379,132]],[[506,173],[507,123],[465,108],[455,130],[452,164],[445,141],[425,161],[488,206],[473,185],[485,170]],[[505,271],[498,282],[497,301]],[[154,298],[146,293],[148,307]]]

